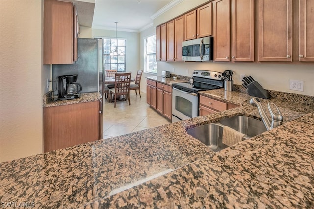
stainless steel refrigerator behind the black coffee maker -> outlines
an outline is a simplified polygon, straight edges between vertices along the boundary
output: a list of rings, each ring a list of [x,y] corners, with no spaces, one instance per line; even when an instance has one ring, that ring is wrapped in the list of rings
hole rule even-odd
[[[99,92],[103,96],[103,63],[103,40],[78,38],[78,60],[74,64],[52,65],[52,80],[57,82],[58,76],[78,74],[77,82],[82,85],[80,93]],[[55,85],[53,89],[56,89]],[[103,127],[103,100],[100,110],[99,123]],[[103,128],[100,130],[100,136],[103,136]]]

